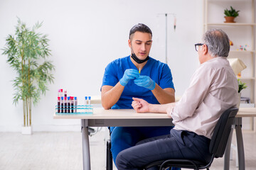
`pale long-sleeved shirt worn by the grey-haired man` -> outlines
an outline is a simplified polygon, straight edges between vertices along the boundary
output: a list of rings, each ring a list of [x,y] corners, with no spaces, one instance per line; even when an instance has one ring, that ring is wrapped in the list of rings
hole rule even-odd
[[[191,84],[171,110],[176,130],[188,130],[211,139],[215,125],[238,103],[238,80],[226,57],[201,64]]]

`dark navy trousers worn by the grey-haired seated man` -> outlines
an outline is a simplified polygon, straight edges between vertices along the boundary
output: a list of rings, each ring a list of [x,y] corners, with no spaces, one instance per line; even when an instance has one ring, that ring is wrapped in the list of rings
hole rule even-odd
[[[194,132],[172,129],[170,135],[142,140],[117,155],[118,170],[138,170],[162,159],[210,160],[210,140]]]

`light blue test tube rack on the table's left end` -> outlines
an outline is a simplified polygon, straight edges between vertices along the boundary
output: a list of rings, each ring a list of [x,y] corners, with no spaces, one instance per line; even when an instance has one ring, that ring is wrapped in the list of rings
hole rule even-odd
[[[78,105],[78,106],[70,106],[70,108],[62,108],[63,106],[55,106],[56,114],[81,114],[81,113],[93,113],[92,105]],[[69,112],[68,112],[69,110]],[[65,112],[66,111],[66,112]]]

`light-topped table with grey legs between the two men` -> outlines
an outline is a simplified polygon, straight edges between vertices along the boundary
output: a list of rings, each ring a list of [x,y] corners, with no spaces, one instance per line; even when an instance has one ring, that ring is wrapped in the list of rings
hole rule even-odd
[[[242,118],[255,117],[256,108],[240,108],[235,118],[234,128],[238,141],[239,169],[245,169],[245,154],[242,142]],[[88,137],[88,127],[108,127],[108,126],[171,126],[171,118],[166,114],[159,113],[136,113],[133,109],[104,110],[94,108],[93,114],[56,114],[55,119],[81,119],[82,127],[82,157],[83,169],[90,169],[90,147]],[[229,169],[230,144],[232,133],[225,153],[224,169]]]

